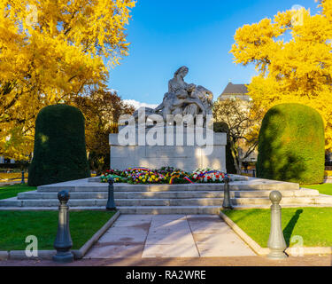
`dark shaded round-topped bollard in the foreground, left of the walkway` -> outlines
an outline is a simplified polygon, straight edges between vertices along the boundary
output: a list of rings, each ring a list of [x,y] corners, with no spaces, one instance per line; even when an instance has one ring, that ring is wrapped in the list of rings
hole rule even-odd
[[[53,256],[53,261],[58,264],[67,264],[73,262],[73,254],[70,248],[73,247],[72,237],[69,229],[69,201],[70,194],[64,190],[58,193],[58,233],[54,241],[54,248],[57,249],[57,254]]]

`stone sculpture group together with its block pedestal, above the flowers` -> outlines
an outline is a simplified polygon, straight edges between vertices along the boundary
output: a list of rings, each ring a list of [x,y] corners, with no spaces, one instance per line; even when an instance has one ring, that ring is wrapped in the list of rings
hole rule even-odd
[[[227,135],[212,130],[213,94],[203,86],[186,83],[188,72],[188,67],[180,67],[157,108],[138,109],[120,126],[119,134],[110,134],[112,169],[139,165],[226,172]]]

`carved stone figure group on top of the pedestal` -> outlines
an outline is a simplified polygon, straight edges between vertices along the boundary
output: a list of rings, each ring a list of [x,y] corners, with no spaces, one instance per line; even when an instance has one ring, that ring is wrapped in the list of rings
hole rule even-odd
[[[197,86],[193,83],[184,82],[184,77],[188,75],[188,67],[180,67],[174,78],[168,82],[168,92],[166,92],[162,104],[155,109],[145,107],[145,116],[160,114],[166,122],[167,114],[191,114],[195,117],[202,114],[212,114],[212,91],[205,87]],[[135,111],[135,119],[138,120],[139,111]]]

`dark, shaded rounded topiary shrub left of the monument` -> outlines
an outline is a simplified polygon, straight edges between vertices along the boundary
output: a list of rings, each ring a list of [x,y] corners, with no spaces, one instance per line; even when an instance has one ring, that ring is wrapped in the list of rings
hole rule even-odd
[[[28,185],[50,185],[84,177],[90,177],[90,171],[83,114],[74,106],[42,108],[35,122]]]

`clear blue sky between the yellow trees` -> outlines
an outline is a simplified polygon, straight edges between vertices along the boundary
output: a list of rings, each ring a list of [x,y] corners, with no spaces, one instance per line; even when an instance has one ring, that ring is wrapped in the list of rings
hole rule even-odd
[[[205,86],[217,99],[229,81],[250,83],[254,68],[233,63],[237,28],[294,4],[316,13],[314,0],[138,0],[127,26],[129,56],[110,72],[109,88],[122,99],[159,104],[168,80],[183,65],[188,83]]]

